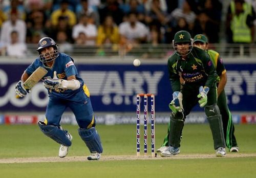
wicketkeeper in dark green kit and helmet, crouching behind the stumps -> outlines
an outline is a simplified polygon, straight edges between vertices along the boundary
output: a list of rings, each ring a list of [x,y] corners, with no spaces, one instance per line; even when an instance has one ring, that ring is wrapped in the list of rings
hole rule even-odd
[[[180,153],[180,136],[186,116],[199,103],[204,107],[218,157],[226,155],[220,109],[217,105],[217,72],[208,53],[193,47],[187,31],[179,31],[173,40],[175,53],[168,58],[169,80],[173,90],[168,146],[162,157]],[[182,78],[182,80],[181,80]],[[184,81],[184,82],[183,82]]]

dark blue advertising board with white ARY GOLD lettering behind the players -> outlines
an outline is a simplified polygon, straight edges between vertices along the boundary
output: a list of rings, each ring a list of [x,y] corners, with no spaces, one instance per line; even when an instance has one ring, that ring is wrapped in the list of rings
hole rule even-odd
[[[15,98],[14,86],[28,64],[1,64],[0,112],[41,112],[48,103],[47,91],[39,82],[32,93]],[[169,112],[172,90],[166,64],[76,64],[91,93],[95,112],[136,112],[136,94],[155,94],[156,112]],[[256,64],[226,64],[225,87],[229,109],[255,112]],[[194,111],[203,112],[196,106]]]

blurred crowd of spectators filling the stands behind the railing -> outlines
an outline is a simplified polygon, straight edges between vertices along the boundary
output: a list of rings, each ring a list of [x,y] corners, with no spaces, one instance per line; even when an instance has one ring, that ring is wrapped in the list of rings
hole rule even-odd
[[[0,2],[1,53],[18,57],[26,55],[27,44],[37,44],[45,36],[53,38],[60,51],[66,53],[72,52],[74,46],[109,46],[113,51],[123,48],[129,53],[140,44],[148,44],[147,55],[152,56],[159,44],[172,43],[179,30],[186,30],[191,36],[204,34],[209,43],[218,43],[223,18],[219,0]],[[230,1],[225,17],[227,42],[253,42],[253,4],[252,0]]]

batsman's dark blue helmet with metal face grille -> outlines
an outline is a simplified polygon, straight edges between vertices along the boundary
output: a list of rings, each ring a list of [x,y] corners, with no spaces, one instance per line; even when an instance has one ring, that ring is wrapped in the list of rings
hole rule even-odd
[[[46,47],[53,47],[53,54],[41,54],[41,50]],[[50,62],[55,60],[59,56],[59,50],[57,43],[50,37],[41,38],[38,42],[37,52],[39,53],[39,60],[41,62]]]

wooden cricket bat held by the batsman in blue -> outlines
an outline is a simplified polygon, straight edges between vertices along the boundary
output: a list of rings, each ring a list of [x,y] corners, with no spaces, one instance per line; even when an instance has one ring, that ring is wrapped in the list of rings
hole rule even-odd
[[[30,76],[29,78],[23,83],[23,86],[27,90],[31,90],[33,86],[35,86],[36,83],[41,80],[42,77],[44,77],[48,71],[45,68],[42,68],[39,66]],[[18,95],[16,95],[16,98],[19,98]]]

